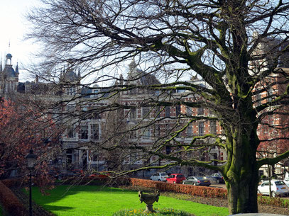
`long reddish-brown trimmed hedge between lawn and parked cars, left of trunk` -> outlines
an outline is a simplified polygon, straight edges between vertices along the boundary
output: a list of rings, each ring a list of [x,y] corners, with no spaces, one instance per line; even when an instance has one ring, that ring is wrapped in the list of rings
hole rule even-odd
[[[139,178],[131,178],[131,186],[154,188],[159,191],[172,191],[175,193],[186,193],[198,195],[205,198],[227,198],[227,190],[224,188],[209,188],[203,186],[190,186],[182,184],[164,183]]]

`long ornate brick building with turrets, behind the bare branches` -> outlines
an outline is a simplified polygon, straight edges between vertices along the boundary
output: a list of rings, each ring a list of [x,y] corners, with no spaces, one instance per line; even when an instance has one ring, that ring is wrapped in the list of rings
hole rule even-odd
[[[87,169],[93,168],[98,171],[111,169],[108,161],[116,160],[117,152],[112,155],[104,154],[104,152],[95,148],[108,139],[112,132],[111,125],[114,121],[119,121],[123,130],[130,130],[135,125],[147,125],[152,120],[155,121],[149,127],[139,127],[137,130],[131,130],[128,135],[123,135],[122,139],[126,140],[126,145],[138,145],[143,147],[150,147],[156,143],[160,137],[165,134],[174,133],[180,128],[190,122],[193,116],[212,116],[206,108],[190,108],[184,104],[176,106],[165,107],[146,107],[142,106],[143,101],[152,97],[163,97],[159,95],[158,91],[150,91],[148,89],[131,89],[129,91],[121,92],[120,96],[116,98],[109,96],[109,88],[102,89],[97,85],[85,86],[80,84],[80,72],[75,72],[72,65],[68,64],[67,69],[63,69],[60,74],[58,83],[43,83],[38,80],[36,76],[35,81],[18,81],[18,66],[14,70],[11,64],[11,55],[6,55],[6,64],[4,69],[0,70],[1,74],[1,95],[5,97],[14,98],[17,96],[26,96],[27,98],[36,98],[39,101],[45,101],[48,106],[48,113],[52,115],[55,123],[62,128],[62,154],[53,156],[50,159],[52,166],[58,167],[62,171],[68,169]],[[203,85],[199,79],[194,79],[195,84]],[[136,63],[133,61],[129,64],[129,72],[126,79],[122,76],[119,78],[119,83],[116,84],[160,84],[152,74],[146,74],[138,69]],[[185,101],[202,100],[200,96],[193,95],[187,91],[173,92],[174,98],[182,98]],[[100,98],[102,98],[100,100]],[[159,98],[162,99],[162,98]],[[114,103],[117,100],[119,104],[124,106],[133,106],[131,108],[124,108],[118,112],[102,113],[99,112],[102,107]],[[51,106],[51,104],[58,102],[58,106]],[[80,113],[85,113],[82,118],[79,118]],[[96,114],[98,113],[98,114]],[[181,116],[178,120],[178,116]],[[111,116],[114,116],[111,120]],[[206,134],[217,135],[221,133],[221,127],[216,120],[197,120],[189,124],[189,126],[182,130],[173,140],[171,140],[163,149],[164,154],[178,151],[177,148],[171,147],[175,143],[189,144],[193,137],[203,136]],[[119,139],[119,138],[117,138]],[[116,140],[117,140],[116,139]],[[197,140],[196,143],[201,144],[202,139]],[[213,142],[210,140],[209,142]],[[180,154],[180,157],[197,157],[202,161],[209,161],[210,159],[225,160],[226,154],[224,149],[213,147],[208,152],[201,154],[195,152],[194,155],[187,153]],[[148,161],[149,160],[149,161]],[[146,163],[154,163],[162,166],[168,164],[170,161],[165,159],[158,159],[153,156],[150,159],[144,159],[141,153],[131,152],[128,157],[122,158],[121,162],[123,169],[137,169]],[[195,167],[180,167],[175,166],[169,170],[170,172],[178,171],[185,174],[200,174],[205,169]],[[155,170],[142,171],[138,173],[139,176],[150,176]]]

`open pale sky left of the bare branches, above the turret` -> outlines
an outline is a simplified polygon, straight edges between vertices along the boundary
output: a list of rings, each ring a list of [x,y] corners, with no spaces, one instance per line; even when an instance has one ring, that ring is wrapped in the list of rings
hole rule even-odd
[[[19,81],[28,79],[23,67],[33,61],[33,53],[38,49],[32,41],[23,40],[23,36],[29,30],[29,23],[24,15],[39,4],[38,0],[0,1],[0,59],[4,67],[6,54],[11,53],[14,69],[18,62]]]

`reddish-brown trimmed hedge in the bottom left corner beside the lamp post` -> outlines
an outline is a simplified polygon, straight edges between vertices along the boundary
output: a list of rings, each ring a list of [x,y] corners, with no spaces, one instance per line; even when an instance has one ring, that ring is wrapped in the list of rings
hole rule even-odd
[[[9,215],[26,216],[27,210],[16,195],[0,181],[0,202]]]

